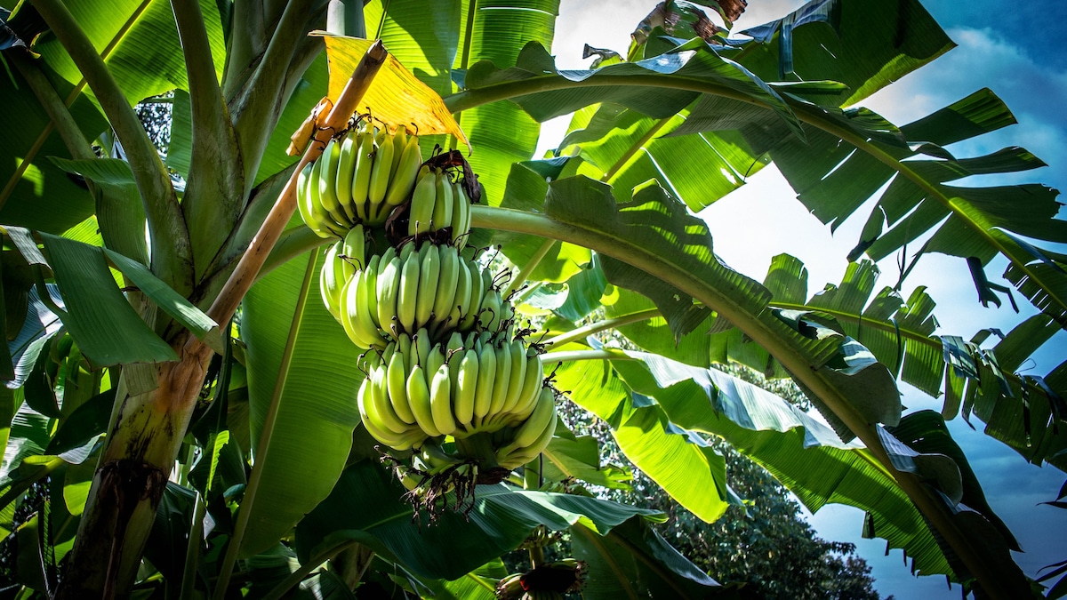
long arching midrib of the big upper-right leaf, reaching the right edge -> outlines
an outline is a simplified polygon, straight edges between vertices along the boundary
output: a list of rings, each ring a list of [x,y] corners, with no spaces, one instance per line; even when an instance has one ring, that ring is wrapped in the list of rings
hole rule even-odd
[[[558,75],[543,75],[537,77],[530,77],[527,79],[522,79],[519,81],[506,81],[500,83],[493,83],[485,85],[483,88],[478,88],[474,90],[465,90],[458,94],[453,94],[445,98],[445,105],[452,112],[462,112],[467,109],[479,107],[481,105],[495,102],[499,100],[510,100],[517,98],[520,96],[525,96],[529,94],[536,94],[539,92],[550,92],[556,90],[571,90],[577,88],[590,88],[590,86],[649,86],[649,88],[659,88],[669,90],[683,90],[688,92],[697,92],[701,94],[710,94],[714,96],[720,96],[723,98],[730,98],[733,100],[746,102],[752,106],[757,106],[766,110],[773,110],[771,107],[767,106],[765,102],[753,98],[751,96],[745,95],[736,90],[732,90],[724,85],[719,85],[708,81],[702,81],[699,79],[679,77],[679,76],[668,76],[658,74],[648,74],[648,75],[602,75],[598,77],[590,77],[584,80],[574,81]],[[1055,286],[1050,285],[1045,281],[1039,272],[1034,271],[1034,269],[1028,267],[1025,263],[1022,263],[1019,258],[1015,256],[1014,253],[997,239],[996,236],[991,235],[989,231],[983,227],[980,223],[970,219],[967,211],[964,210],[957,202],[950,199],[939,190],[936,186],[931,185],[929,181],[924,179],[919,173],[911,169],[907,161],[901,161],[894,158],[889,153],[879,148],[876,144],[869,141],[866,138],[859,136],[858,133],[848,130],[844,126],[832,122],[829,119],[824,117],[819,112],[817,107],[799,102],[790,98],[789,96],[783,96],[783,100],[786,106],[794,112],[796,117],[813,127],[822,129],[827,133],[835,136],[842,141],[853,144],[858,149],[871,155],[879,162],[888,165],[894,171],[898,172],[904,177],[910,179],[913,184],[919,186],[924,192],[929,194],[931,198],[937,199],[938,202],[943,204],[952,215],[960,219],[961,222],[966,223],[971,230],[977,233],[983,240],[986,241],[991,248],[994,248],[998,252],[1003,254],[1012,265],[1019,269],[1019,271],[1030,278],[1030,281],[1036,282],[1037,285],[1041,287],[1046,293],[1048,293],[1050,300],[1056,305],[1057,310],[1067,313],[1067,298],[1062,298],[1057,296],[1054,291]]]

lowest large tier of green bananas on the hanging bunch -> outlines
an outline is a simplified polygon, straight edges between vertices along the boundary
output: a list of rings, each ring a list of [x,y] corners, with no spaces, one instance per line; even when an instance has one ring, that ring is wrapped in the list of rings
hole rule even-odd
[[[507,428],[496,436],[492,457],[472,458],[512,464],[535,446],[532,456],[540,454],[556,421],[552,391],[546,396],[542,389],[541,357],[522,341],[492,337],[488,331],[466,338],[455,332],[447,344],[431,346],[424,328],[414,336],[401,333],[380,357],[371,353],[357,397],[370,435],[408,449],[427,438],[462,440]]]

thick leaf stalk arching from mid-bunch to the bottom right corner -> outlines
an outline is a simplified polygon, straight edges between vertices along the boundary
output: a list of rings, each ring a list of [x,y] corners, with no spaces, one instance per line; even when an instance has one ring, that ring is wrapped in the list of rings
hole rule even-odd
[[[997,558],[985,555],[971,546],[966,532],[952,520],[943,501],[915,475],[901,472],[893,467],[874,425],[857,411],[847,394],[839,391],[833,382],[808,362],[805,354],[794,348],[771,327],[765,315],[753,314],[737,304],[724,293],[695,279],[681,266],[651,253],[632,240],[615,237],[590,226],[555,221],[543,215],[508,208],[475,205],[472,208],[472,226],[489,227],[514,233],[551,237],[584,246],[601,254],[618,258],[656,277],[715,310],[753,342],[767,350],[800,383],[816,394],[826,407],[851,430],[872,452],[875,458],[892,474],[917,508],[929,520],[931,526],[945,539],[960,557],[967,569],[977,578],[983,588],[993,598],[1012,598],[1008,578],[999,577]]]

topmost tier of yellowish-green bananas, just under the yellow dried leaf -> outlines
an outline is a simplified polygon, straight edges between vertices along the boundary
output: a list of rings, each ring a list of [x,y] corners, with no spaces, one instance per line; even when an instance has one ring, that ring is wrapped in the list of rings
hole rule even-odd
[[[345,237],[357,223],[381,225],[408,201],[423,164],[417,136],[404,127],[362,128],[331,139],[297,179],[297,207],[320,237]]]

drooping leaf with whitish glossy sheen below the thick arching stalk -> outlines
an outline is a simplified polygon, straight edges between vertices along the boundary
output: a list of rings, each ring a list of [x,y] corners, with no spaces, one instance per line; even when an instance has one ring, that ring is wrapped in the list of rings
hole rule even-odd
[[[812,511],[829,503],[866,510],[875,534],[905,549],[918,572],[951,573],[923,517],[869,451],[841,442],[833,430],[781,398],[721,372],[634,356],[649,367],[625,361],[615,367],[680,426],[723,438]]]

